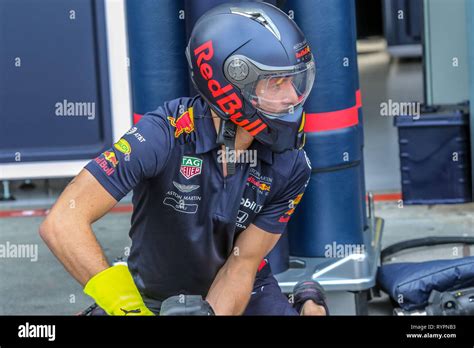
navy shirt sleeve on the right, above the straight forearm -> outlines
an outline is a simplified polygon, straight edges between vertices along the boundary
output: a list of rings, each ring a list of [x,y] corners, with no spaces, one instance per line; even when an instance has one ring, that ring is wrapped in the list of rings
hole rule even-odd
[[[255,217],[253,224],[267,232],[281,234],[301,202],[311,176],[311,164],[304,150],[299,150],[288,185],[266,204]]]

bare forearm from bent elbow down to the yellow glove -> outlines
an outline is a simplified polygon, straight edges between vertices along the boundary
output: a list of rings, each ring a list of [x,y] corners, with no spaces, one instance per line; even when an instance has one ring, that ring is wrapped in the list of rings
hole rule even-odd
[[[77,221],[43,223],[40,234],[66,270],[84,286],[95,274],[109,267],[89,224]]]

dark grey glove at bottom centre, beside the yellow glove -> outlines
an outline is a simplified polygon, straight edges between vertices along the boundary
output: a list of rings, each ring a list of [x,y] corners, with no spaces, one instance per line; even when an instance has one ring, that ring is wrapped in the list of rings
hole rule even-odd
[[[215,315],[209,302],[200,295],[178,295],[161,304],[160,315]]]

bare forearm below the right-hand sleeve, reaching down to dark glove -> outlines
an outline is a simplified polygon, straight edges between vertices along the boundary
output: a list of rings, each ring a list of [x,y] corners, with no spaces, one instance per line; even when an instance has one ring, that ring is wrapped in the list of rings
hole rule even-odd
[[[280,234],[251,224],[237,238],[234,250],[217,273],[206,300],[217,315],[240,315],[250,300],[258,266]]]

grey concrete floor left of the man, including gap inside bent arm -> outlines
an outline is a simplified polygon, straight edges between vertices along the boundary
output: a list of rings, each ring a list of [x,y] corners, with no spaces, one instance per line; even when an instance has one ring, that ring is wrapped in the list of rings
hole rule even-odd
[[[0,314],[65,314],[85,309],[91,300],[64,270],[38,235],[43,218],[0,219],[0,244],[38,246],[38,260],[0,259]],[[109,214],[93,225],[107,258],[122,256],[129,247],[130,214]]]

